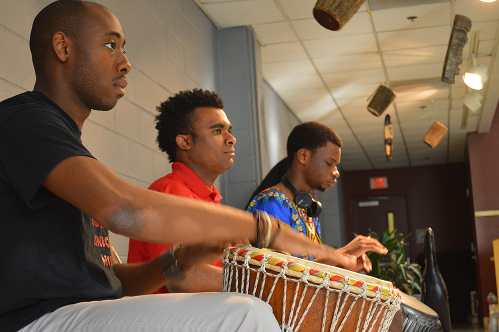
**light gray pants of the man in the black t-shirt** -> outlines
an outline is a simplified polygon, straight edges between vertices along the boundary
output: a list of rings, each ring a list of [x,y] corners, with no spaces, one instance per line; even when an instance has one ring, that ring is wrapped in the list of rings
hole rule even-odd
[[[82,302],[19,332],[278,332],[272,309],[236,293],[156,294]]]

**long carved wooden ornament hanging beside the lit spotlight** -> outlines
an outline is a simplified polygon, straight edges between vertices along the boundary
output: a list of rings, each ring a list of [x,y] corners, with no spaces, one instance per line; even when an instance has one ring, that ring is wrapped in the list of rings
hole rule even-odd
[[[463,47],[468,41],[468,32],[471,29],[471,19],[463,15],[454,17],[451,38],[447,46],[447,54],[442,70],[442,82],[453,84],[459,73],[459,65],[463,62]]]

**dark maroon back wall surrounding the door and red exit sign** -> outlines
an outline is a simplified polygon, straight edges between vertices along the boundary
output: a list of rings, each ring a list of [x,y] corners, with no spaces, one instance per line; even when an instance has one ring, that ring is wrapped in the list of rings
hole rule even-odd
[[[430,148],[430,147],[429,147]],[[470,251],[473,242],[470,199],[467,197],[466,164],[447,164],[343,172],[346,202],[347,238],[351,240],[353,223],[352,198],[407,194],[409,231],[416,243],[415,230],[431,227],[438,252]],[[388,178],[388,189],[371,190],[370,177]],[[411,248],[413,258],[423,253],[423,246]]]

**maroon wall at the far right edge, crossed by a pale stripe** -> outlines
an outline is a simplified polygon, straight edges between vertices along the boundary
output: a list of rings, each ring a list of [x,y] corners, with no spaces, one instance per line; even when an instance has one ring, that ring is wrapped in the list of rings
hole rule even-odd
[[[499,109],[499,105],[498,105]],[[486,134],[469,133],[467,161],[474,211],[499,210],[499,111]],[[474,217],[480,316],[489,316],[487,295],[497,295],[492,241],[499,238],[499,216]],[[484,310],[485,309],[485,310]]]

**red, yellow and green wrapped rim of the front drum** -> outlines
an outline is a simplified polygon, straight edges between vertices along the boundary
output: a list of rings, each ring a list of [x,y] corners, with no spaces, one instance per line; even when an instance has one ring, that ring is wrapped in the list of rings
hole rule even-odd
[[[393,302],[397,299],[400,301],[400,299],[401,299],[400,290],[398,290],[396,287],[393,287],[393,286],[387,287],[387,286],[373,284],[373,283],[370,283],[368,281],[362,280],[361,278],[362,277],[369,277],[369,279],[374,279],[376,281],[388,283],[391,285],[390,282],[382,281],[382,280],[379,280],[377,278],[370,277],[370,276],[361,275],[361,274],[358,274],[358,273],[355,273],[352,271],[347,271],[344,269],[330,267],[330,266],[323,265],[320,263],[314,263],[311,261],[302,260],[302,259],[299,259],[296,257],[291,257],[293,259],[293,261],[290,261],[287,259],[287,258],[290,258],[290,256],[282,255],[282,254],[275,253],[275,252],[270,252],[270,251],[267,251],[264,249],[238,245],[237,247],[227,248],[224,256],[227,256],[227,258],[229,259],[229,262],[230,262],[230,259],[231,259],[230,256],[233,256],[233,258],[235,257],[236,260],[238,260],[238,261],[245,261],[246,256],[248,256],[248,255],[250,255],[249,259],[252,261],[252,262],[250,262],[250,264],[260,265],[260,266],[261,266],[261,261],[263,260],[264,256],[267,256],[268,258],[267,258],[267,263],[265,265],[265,268],[268,268],[274,272],[279,273],[280,270],[283,269],[282,266],[285,265],[286,268],[284,269],[284,274],[291,276],[291,277],[294,277],[294,278],[301,278],[304,274],[303,272],[305,272],[305,267],[308,266],[313,271],[310,271],[309,275],[307,275],[306,278],[310,282],[312,282],[316,285],[322,284],[324,282],[324,278],[326,277],[326,274],[329,273],[330,277],[329,277],[328,286],[332,289],[342,290],[345,287],[348,287],[348,289],[352,293],[360,294],[362,291],[362,283],[365,283],[367,286],[366,296],[368,298],[375,298],[378,296],[378,293],[379,293],[379,297],[385,301],[387,299],[390,299],[390,302]],[[300,262],[306,263],[306,265],[300,264]],[[277,264],[279,264],[279,265],[277,265]],[[315,269],[313,266],[323,266],[323,267],[327,267],[327,268],[334,268],[334,270],[339,269],[339,270],[345,271],[346,273],[345,273],[345,275],[340,275],[340,274],[336,274],[335,272],[321,271],[321,270]],[[331,269],[331,270],[333,270],[333,269]],[[355,276],[355,277],[360,276],[361,278],[357,279],[355,277],[350,277],[349,275]]]

